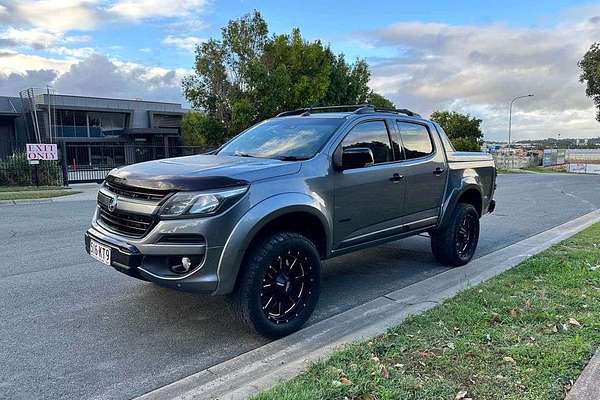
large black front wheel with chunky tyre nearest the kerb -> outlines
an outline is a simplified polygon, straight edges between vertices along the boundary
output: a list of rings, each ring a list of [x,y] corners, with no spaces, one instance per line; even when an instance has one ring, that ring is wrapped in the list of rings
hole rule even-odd
[[[297,331],[317,305],[321,260],[315,245],[294,232],[257,242],[241,266],[233,305],[251,330],[280,338]]]

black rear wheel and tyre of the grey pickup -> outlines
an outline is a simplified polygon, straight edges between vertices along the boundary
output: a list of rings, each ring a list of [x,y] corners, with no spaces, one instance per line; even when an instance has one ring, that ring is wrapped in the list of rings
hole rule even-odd
[[[436,260],[452,267],[465,265],[477,249],[479,214],[471,204],[458,203],[448,224],[430,235]]]

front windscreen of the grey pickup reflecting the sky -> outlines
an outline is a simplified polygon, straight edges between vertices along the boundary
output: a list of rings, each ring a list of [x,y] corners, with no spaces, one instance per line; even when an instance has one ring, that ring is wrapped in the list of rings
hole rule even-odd
[[[246,130],[219,154],[306,160],[312,158],[343,122],[340,118],[275,118]]]

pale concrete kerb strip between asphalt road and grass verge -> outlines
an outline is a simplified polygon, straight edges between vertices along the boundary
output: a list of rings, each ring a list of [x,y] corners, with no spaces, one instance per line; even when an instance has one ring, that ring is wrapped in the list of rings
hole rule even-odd
[[[600,222],[600,210],[539,233],[421,282],[311,325],[179,381],[139,400],[245,399],[288,379],[337,347],[380,335],[409,315],[422,313],[527,258]]]

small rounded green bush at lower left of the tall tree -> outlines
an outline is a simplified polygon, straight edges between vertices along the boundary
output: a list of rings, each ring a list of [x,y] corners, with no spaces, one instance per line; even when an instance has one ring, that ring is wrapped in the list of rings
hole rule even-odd
[[[217,147],[224,139],[223,124],[207,114],[191,111],[181,119],[181,141],[186,146]]]

